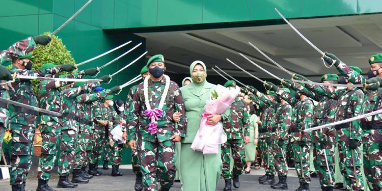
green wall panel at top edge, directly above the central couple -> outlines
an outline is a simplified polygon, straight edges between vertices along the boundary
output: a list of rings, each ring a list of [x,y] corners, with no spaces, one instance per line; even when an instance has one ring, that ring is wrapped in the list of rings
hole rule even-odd
[[[202,23],[202,0],[158,0],[157,25]]]

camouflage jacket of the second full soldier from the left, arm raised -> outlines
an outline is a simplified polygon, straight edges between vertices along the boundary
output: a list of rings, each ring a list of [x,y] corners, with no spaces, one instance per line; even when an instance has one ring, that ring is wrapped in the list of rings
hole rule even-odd
[[[66,78],[83,78],[84,76],[84,71],[80,71],[70,74]],[[39,84],[40,108],[61,113],[62,99],[59,88],[70,83],[69,81],[41,80]],[[62,124],[62,120],[56,116],[41,115],[41,124],[47,124],[51,121]]]

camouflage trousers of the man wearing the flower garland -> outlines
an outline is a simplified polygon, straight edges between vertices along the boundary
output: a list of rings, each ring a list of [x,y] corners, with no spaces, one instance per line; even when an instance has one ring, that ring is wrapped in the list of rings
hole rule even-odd
[[[150,142],[142,140],[141,172],[143,174],[143,190],[158,190],[156,171],[159,169],[159,183],[163,188],[170,189],[175,175],[175,143],[168,140]]]

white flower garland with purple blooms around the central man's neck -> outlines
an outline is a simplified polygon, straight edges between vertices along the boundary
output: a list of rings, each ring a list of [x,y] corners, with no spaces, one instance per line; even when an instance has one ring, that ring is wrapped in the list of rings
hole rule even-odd
[[[155,134],[158,130],[158,122],[156,122],[156,120],[158,120],[160,117],[163,116],[162,107],[163,105],[165,105],[165,99],[170,88],[170,77],[168,75],[163,75],[163,77],[166,80],[166,85],[165,85],[165,89],[163,90],[163,94],[160,98],[158,108],[151,109],[151,106],[150,106],[149,92],[148,92],[148,89],[149,89],[148,82],[149,82],[150,76],[145,77],[145,81],[143,83],[143,92],[144,92],[145,104],[146,104],[145,115],[151,120],[150,123],[148,124],[148,127],[149,127],[148,129],[150,131],[150,134]]]

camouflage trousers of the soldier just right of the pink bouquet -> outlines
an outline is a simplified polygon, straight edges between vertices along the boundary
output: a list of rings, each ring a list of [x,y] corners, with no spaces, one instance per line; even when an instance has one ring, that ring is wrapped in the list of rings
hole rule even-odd
[[[231,172],[231,156],[233,158],[233,169]],[[245,166],[245,151],[243,140],[227,140],[222,144],[222,175],[225,180],[231,179],[232,175],[241,175]]]

